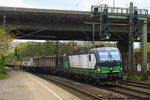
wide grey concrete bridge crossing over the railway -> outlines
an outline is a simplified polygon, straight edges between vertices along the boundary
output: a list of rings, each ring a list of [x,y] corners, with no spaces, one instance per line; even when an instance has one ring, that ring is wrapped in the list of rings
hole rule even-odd
[[[90,12],[52,9],[0,7],[0,23],[6,16],[19,39],[36,40],[86,40],[92,41]],[[110,19],[111,41],[128,41],[129,20]],[[94,40],[99,41],[98,25]],[[148,16],[148,41],[150,42],[150,16]]]

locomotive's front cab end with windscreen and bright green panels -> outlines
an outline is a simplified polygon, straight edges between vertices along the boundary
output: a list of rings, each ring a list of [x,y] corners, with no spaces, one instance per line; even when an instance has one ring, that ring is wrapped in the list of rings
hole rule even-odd
[[[123,62],[120,51],[117,48],[96,48],[90,50],[96,57],[96,68],[99,72],[100,82],[117,82],[124,77]]]

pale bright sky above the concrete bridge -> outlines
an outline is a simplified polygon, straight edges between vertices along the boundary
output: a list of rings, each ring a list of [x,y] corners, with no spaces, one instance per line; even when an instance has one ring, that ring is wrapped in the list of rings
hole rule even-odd
[[[115,7],[128,8],[129,3],[133,2],[139,9],[150,10],[150,0],[0,0],[0,6],[90,11],[91,5],[113,6],[113,2]]]

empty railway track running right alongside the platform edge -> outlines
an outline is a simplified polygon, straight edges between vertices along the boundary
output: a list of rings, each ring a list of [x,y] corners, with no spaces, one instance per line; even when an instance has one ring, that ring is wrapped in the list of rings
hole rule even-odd
[[[82,94],[87,95],[88,97],[91,97],[91,98],[93,98],[93,99],[95,99],[95,100],[103,100],[103,97],[102,97],[101,95],[99,95],[99,94],[90,93],[89,91],[80,89],[80,88],[78,88],[78,87],[75,87],[74,85],[70,85],[70,84],[61,82],[61,81],[59,81],[59,80],[53,79],[53,78],[49,77],[48,75],[41,75],[41,74],[35,74],[35,75],[37,75],[37,76],[39,76],[39,77],[41,77],[41,78],[44,78],[44,79],[46,79],[46,80],[49,80],[49,81],[52,81],[52,82],[55,82],[55,83],[64,85],[64,86],[66,86],[66,87],[69,87],[69,88],[71,88],[71,89],[73,89],[73,90],[76,90],[76,91],[78,91],[78,92],[81,92]]]

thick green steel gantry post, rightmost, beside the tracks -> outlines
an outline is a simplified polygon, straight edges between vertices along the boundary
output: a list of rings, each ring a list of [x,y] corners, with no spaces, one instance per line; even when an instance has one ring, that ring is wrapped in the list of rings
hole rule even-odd
[[[141,41],[141,65],[142,65],[142,80],[148,79],[147,73],[147,20],[142,23],[142,41]]]

